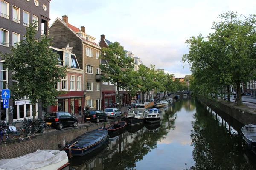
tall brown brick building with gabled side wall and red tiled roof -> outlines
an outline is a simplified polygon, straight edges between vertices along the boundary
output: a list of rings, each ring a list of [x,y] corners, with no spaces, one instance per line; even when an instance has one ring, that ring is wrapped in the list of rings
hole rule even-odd
[[[78,65],[84,70],[84,105],[101,109],[99,54],[102,48],[94,42],[95,38],[85,33],[84,26],[80,30],[68,23],[66,15],[52,23],[49,37],[53,37],[55,48],[63,48],[67,44],[73,47],[72,53],[76,54]]]

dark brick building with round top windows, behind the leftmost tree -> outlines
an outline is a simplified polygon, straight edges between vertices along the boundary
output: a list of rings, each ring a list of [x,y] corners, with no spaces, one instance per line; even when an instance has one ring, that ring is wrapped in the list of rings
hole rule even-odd
[[[42,34],[48,34],[49,28],[50,0],[0,0],[0,51],[10,52],[10,48],[15,43],[23,40],[26,28],[29,23],[36,21],[36,38]],[[6,89],[7,85],[12,85],[12,73],[3,69],[4,59],[0,58],[1,86],[0,90]],[[12,95],[12,92],[11,92]],[[11,109],[10,109],[11,108]],[[38,115],[42,113],[41,105],[36,105]],[[13,122],[24,117],[32,118],[32,105],[27,96],[23,99],[12,101],[9,99],[9,109],[3,108],[1,100],[1,120],[7,119]],[[6,116],[8,115],[8,116]]]

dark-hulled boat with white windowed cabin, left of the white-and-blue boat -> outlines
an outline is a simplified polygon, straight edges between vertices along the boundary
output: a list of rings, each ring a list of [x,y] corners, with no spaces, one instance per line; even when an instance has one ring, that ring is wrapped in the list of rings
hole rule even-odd
[[[144,123],[145,115],[148,114],[145,108],[132,108],[125,116],[128,125],[138,125]]]

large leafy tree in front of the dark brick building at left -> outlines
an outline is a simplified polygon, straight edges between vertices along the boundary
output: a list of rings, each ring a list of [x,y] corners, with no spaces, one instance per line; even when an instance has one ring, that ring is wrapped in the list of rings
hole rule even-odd
[[[35,104],[44,100],[44,107],[57,105],[56,97],[64,94],[54,88],[60,78],[66,75],[66,67],[59,67],[56,54],[49,48],[51,39],[43,36],[35,39],[37,28],[30,23],[26,28],[24,40],[12,46],[11,53],[0,54],[5,59],[4,67],[11,71],[12,79],[16,84],[8,85],[13,99],[29,96],[33,105],[33,118],[35,119]]]

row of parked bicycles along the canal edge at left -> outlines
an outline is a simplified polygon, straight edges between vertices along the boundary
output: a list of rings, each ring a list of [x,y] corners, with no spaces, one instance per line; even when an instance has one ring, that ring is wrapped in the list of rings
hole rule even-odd
[[[21,124],[18,130],[16,128],[17,123]],[[35,133],[48,132],[50,129],[51,126],[45,123],[44,118],[24,119],[23,121],[12,122],[11,126],[9,122],[0,122],[0,139],[6,141],[15,138],[15,136],[28,137]]]

